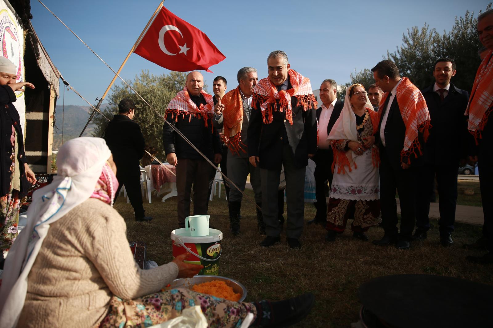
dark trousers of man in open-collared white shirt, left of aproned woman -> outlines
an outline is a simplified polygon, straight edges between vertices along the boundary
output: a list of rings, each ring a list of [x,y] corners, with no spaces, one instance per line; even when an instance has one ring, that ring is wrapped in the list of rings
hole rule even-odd
[[[317,214],[315,218],[319,221],[325,222],[327,220],[327,198],[325,196],[325,186],[326,181],[329,185],[332,184],[332,178],[334,173],[332,173],[332,162],[334,161],[334,154],[332,149],[318,149],[317,155],[315,157],[315,197],[317,201],[315,202],[315,208],[317,209]]]

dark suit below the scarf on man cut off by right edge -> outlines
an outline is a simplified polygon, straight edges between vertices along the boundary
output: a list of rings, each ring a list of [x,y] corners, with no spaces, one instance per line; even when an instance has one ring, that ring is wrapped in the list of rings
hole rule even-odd
[[[487,239],[487,248],[493,252],[493,113],[490,112],[488,123],[481,133],[479,139],[479,187],[481,200],[483,202],[483,214],[485,223],[483,235]]]

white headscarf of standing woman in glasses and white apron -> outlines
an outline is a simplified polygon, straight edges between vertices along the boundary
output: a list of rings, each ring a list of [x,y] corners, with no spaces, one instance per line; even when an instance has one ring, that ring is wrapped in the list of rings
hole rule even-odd
[[[361,84],[356,83],[346,89],[346,97],[344,98],[344,106],[342,108],[341,115],[339,115],[339,118],[337,119],[336,123],[334,123],[334,127],[332,128],[332,130],[330,130],[327,140],[348,139],[351,141],[358,141],[357,131],[356,131],[356,115],[352,110],[350,97],[349,97],[349,93],[351,92],[352,88],[355,88],[356,86],[363,87]],[[365,108],[373,110],[373,105],[371,104],[368,95],[365,95],[365,97],[366,97]],[[352,153],[352,160],[354,160],[354,158],[357,155],[353,151],[351,151],[351,153]]]

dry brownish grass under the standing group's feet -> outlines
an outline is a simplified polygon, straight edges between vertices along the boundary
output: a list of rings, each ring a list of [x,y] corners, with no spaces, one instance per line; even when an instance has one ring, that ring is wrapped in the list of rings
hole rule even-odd
[[[469,182],[468,182],[469,183]],[[462,184],[461,184],[462,185]],[[253,198],[251,190],[247,195]],[[259,246],[263,239],[256,231],[254,205],[243,202],[241,234],[229,232],[227,202],[214,198],[209,203],[210,223],[223,231],[223,253],[219,274],[240,281],[246,286],[246,301],[259,299],[280,300],[304,292],[312,292],[316,304],[310,315],[296,327],[350,327],[358,320],[361,306],[357,289],[365,281],[390,274],[437,274],[469,279],[493,285],[492,267],[470,264],[466,255],[480,255],[466,251],[462,244],[471,243],[481,235],[481,227],[457,224],[453,234],[455,244],[445,249],[438,242],[436,220],[424,242],[415,242],[410,250],[378,247],[371,242],[352,238],[350,228],[333,243],[324,241],[325,230],[320,226],[305,226],[301,250],[291,250],[282,242],[270,248]],[[193,206],[193,203],[192,203]],[[120,197],[115,208],[127,222],[129,240],[147,244],[147,259],[158,264],[172,260],[170,232],[177,228],[176,197],[165,203],[153,197],[152,204],[144,203],[151,222],[137,223],[130,204]],[[305,220],[315,216],[315,207],[305,204]],[[367,232],[370,240],[380,239],[381,228]]]

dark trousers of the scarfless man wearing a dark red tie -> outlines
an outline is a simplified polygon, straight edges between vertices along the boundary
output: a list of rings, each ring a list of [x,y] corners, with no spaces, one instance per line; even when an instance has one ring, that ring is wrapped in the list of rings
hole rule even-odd
[[[429,211],[433,196],[434,179],[438,187],[440,232],[454,231],[457,205],[457,171],[458,163],[451,165],[425,164],[420,167],[418,177],[420,188],[416,193],[416,227],[428,230],[430,228]]]

